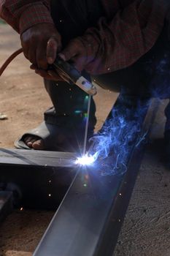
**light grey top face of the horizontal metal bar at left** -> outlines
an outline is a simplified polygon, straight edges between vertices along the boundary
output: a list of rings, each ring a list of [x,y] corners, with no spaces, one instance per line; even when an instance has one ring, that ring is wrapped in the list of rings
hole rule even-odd
[[[57,151],[34,151],[0,148],[1,165],[31,165],[42,167],[74,167],[77,154]]]

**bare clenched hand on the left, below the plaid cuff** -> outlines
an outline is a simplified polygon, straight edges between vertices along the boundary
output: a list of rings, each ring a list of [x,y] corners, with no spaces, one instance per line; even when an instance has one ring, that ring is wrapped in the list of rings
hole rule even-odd
[[[32,26],[23,32],[20,39],[23,53],[35,69],[46,70],[61,50],[61,35],[50,23]]]

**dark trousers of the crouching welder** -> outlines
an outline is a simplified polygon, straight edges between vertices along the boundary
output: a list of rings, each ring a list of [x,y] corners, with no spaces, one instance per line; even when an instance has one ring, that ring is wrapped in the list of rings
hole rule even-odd
[[[104,11],[98,0],[52,0],[51,15],[64,47],[70,39],[81,36],[88,27],[96,26]],[[120,91],[131,100],[132,105],[137,98],[170,98],[170,42],[166,26],[152,49],[131,67],[96,76],[95,79],[104,89]],[[45,80],[45,87],[52,99],[55,116],[66,114],[72,116],[72,120],[81,120],[87,110],[85,92],[77,86],[49,80]],[[93,129],[96,124],[93,100],[90,111],[90,127]],[[170,105],[166,108],[166,117],[170,120]],[[166,124],[166,129],[170,129],[170,124]]]

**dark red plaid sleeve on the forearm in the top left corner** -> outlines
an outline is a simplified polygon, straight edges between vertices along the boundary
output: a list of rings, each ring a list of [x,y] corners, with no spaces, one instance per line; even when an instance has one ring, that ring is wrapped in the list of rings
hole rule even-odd
[[[39,23],[53,23],[50,0],[0,0],[0,17],[18,33]]]

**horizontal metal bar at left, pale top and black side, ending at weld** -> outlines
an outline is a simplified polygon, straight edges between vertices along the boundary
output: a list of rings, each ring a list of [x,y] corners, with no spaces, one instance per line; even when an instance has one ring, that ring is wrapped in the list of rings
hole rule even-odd
[[[56,210],[77,172],[76,155],[0,150],[0,184],[14,194],[15,207]]]

